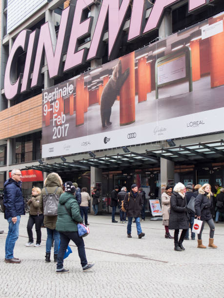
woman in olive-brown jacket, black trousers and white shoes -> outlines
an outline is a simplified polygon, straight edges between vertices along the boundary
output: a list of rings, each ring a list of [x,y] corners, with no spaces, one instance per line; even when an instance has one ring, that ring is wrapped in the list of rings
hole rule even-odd
[[[41,246],[41,224],[43,222],[43,213],[40,209],[39,202],[41,198],[41,189],[39,187],[32,188],[32,195],[27,202],[30,207],[30,215],[27,223],[27,233],[29,236],[29,241],[25,246],[31,246],[34,244],[32,228],[35,224],[35,229],[37,233],[37,242],[34,244],[35,247]]]

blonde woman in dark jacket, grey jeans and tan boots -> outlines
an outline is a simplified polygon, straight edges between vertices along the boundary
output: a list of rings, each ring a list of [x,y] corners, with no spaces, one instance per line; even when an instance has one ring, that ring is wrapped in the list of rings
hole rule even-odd
[[[215,224],[211,215],[211,208],[213,206],[211,186],[205,183],[201,188],[199,188],[198,192],[199,194],[195,200],[195,213],[196,213],[197,219],[203,221],[201,231],[198,234],[198,248],[206,248],[206,246],[202,244],[202,232],[204,229],[205,222],[207,222],[207,224],[210,227],[208,247],[217,248],[217,246],[213,243]]]

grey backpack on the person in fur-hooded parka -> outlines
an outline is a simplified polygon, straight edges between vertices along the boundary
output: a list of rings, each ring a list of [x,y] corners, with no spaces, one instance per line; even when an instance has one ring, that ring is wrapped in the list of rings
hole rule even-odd
[[[55,189],[54,193],[48,193],[47,188],[44,187],[46,194],[43,195],[43,215],[56,216],[58,215],[59,195],[56,193],[59,187]]]

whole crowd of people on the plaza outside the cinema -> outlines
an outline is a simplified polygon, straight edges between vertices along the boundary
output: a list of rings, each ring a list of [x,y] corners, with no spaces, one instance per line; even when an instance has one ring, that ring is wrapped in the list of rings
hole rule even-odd
[[[211,192],[209,184],[193,185],[188,183],[184,186],[181,182],[174,187],[166,186],[162,194],[163,225],[165,238],[174,239],[174,250],[183,251],[183,241],[189,240],[189,229],[191,239],[195,240],[195,233],[192,232],[195,218],[202,221],[202,228],[198,234],[198,248],[206,248],[202,243],[202,232],[206,222],[210,228],[208,247],[217,248],[214,244],[215,225],[213,215],[216,211],[215,221],[224,215],[224,188],[216,185],[216,193]],[[58,198],[58,204],[47,204],[49,196]],[[195,198],[195,212],[190,212],[188,203]],[[47,201],[48,200],[48,201]],[[52,243],[54,241],[54,262],[57,262],[57,273],[67,273],[68,269],[63,267],[63,258],[70,240],[78,247],[78,254],[81,260],[83,271],[88,271],[94,264],[88,263],[85,255],[83,238],[78,234],[78,223],[88,223],[88,208],[90,195],[86,187],[78,187],[77,183],[67,181],[62,183],[57,173],[50,173],[44,181],[42,190],[39,187],[32,188],[32,196],[28,201],[30,214],[27,223],[28,242],[25,246],[41,246],[41,225],[44,224],[47,230],[45,262],[51,261]],[[142,231],[141,221],[145,220],[145,192],[136,184],[131,186],[130,191],[123,186],[119,192],[119,186],[115,186],[111,193],[112,223],[115,220],[117,206],[120,211],[120,222],[126,223],[127,237],[132,238],[132,223],[136,223],[138,238],[145,236]],[[53,201],[50,201],[53,202]],[[92,205],[94,215],[98,214],[100,203],[100,192],[94,187],[92,192]],[[46,212],[48,212],[46,214]],[[54,213],[56,212],[56,213]],[[14,246],[19,237],[20,217],[24,215],[24,200],[21,191],[21,171],[13,169],[11,178],[4,183],[4,216],[9,223],[8,235],[5,242],[5,262],[20,263],[14,257]],[[134,221],[133,221],[134,218]],[[35,224],[37,241],[34,244],[32,228]],[[174,237],[169,230],[174,230]],[[179,231],[182,230],[180,238]]]

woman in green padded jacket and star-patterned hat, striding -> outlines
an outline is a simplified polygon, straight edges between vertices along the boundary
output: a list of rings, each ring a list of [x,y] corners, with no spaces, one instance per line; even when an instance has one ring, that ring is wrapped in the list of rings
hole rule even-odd
[[[58,220],[56,230],[60,233],[60,249],[58,253],[58,262],[56,273],[68,273],[68,269],[63,268],[64,253],[72,240],[77,248],[81,260],[83,271],[88,271],[94,264],[88,264],[85,256],[85,246],[83,239],[78,234],[77,223],[82,223],[80,207],[75,199],[75,186],[71,181],[65,182],[65,192],[61,194],[58,205]]]

